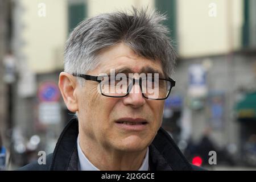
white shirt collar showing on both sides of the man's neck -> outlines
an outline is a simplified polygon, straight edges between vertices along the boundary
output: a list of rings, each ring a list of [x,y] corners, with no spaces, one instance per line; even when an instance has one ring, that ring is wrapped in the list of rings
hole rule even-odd
[[[78,169],[79,171],[100,171],[97,167],[95,167],[90,161],[86,158],[84,153],[81,150],[79,144],[79,137],[77,137],[77,151],[79,156]],[[146,156],[143,159],[142,166],[139,168],[139,171],[148,171],[148,147]]]

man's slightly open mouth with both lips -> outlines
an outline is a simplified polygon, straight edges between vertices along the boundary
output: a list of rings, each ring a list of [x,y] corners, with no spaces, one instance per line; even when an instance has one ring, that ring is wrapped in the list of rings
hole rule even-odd
[[[143,118],[121,118],[116,122],[117,126],[125,130],[141,131],[146,129],[148,121]]]

